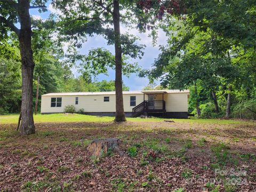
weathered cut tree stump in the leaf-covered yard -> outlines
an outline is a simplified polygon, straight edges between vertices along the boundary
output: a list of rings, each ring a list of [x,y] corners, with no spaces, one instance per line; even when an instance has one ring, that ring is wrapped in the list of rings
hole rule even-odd
[[[123,155],[122,151],[119,149],[121,141],[117,138],[106,138],[106,139],[95,139],[87,147],[92,155],[100,157],[103,154],[107,154],[109,150],[112,152],[117,152],[119,155]]]

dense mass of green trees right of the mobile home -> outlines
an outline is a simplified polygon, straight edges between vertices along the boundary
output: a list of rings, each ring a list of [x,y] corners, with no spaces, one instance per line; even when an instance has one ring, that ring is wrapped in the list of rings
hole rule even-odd
[[[255,119],[255,2],[181,2],[186,14],[161,20],[167,45],[140,75],[167,89],[189,89],[189,113]]]

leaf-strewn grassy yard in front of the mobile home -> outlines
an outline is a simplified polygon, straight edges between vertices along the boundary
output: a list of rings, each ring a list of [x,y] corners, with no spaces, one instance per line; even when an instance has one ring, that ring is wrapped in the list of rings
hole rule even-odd
[[[256,123],[220,119],[0,116],[1,191],[255,191]],[[91,156],[95,138],[117,137],[124,156]],[[236,174],[233,174],[236,173]]]

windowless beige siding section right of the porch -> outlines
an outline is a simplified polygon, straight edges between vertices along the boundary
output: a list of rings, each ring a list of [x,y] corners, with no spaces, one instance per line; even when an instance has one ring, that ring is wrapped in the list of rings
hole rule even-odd
[[[164,94],[166,112],[187,112],[188,93]]]

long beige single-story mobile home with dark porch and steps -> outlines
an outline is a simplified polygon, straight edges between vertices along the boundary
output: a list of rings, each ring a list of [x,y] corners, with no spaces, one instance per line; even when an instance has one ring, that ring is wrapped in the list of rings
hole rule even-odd
[[[189,90],[123,91],[125,115],[187,118],[188,97]],[[41,113],[63,113],[67,105],[84,109],[87,115],[115,116],[115,91],[44,94]]]

